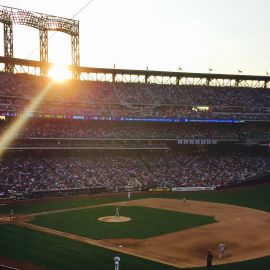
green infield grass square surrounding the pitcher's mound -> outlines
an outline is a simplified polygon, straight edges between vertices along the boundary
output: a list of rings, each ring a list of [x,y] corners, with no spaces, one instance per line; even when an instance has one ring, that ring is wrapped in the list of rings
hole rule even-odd
[[[37,216],[30,223],[92,239],[143,239],[215,222],[213,217],[141,206],[120,208],[120,215],[131,221],[101,222],[99,217],[114,215],[114,206]]]

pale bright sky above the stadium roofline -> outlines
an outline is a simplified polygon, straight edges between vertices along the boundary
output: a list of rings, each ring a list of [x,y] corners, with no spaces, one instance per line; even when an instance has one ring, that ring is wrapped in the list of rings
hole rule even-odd
[[[0,5],[72,18],[89,0],[0,0]],[[269,0],[92,0],[80,22],[87,67],[266,75]],[[50,32],[51,36],[54,32]],[[3,24],[0,24],[0,55]],[[14,26],[14,57],[39,60],[38,30]],[[49,61],[71,63],[70,36],[54,34]]]

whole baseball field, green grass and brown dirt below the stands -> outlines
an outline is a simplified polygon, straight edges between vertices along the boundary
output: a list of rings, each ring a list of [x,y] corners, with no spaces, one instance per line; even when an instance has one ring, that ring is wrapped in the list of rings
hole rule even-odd
[[[182,198],[187,198],[184,203]],[[114,217],[116,207],[120,217]],[[16,214],[9,221],[10,209]],[[0,264],[20,269],[270,269],[270,185],[1,203]],[[123,220],[122,220],[123,218]],[[104,222],[110,221],[110,222]],[[113,221],[113,222],[112,222]],[[226,258],[218,259],[218,244]]]

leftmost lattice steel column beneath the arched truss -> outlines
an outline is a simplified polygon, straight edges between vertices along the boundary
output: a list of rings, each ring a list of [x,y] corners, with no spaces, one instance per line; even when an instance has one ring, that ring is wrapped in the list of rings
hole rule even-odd
[[[13,58],[13,25],[4,23],[4,54],[5,57]],[[14,72],[14,65],[8,63],[5,65],[5,72]]]

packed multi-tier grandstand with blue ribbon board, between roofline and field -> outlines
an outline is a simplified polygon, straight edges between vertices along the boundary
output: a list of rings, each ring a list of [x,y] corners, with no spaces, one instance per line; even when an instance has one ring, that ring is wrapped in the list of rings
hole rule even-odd
[[[50,79],[0,76],[4,134]],[[6,146],[0,191],[3,197],[58,196],[257,179],[270,170],[269,104],[268,88],[54,84]]]

